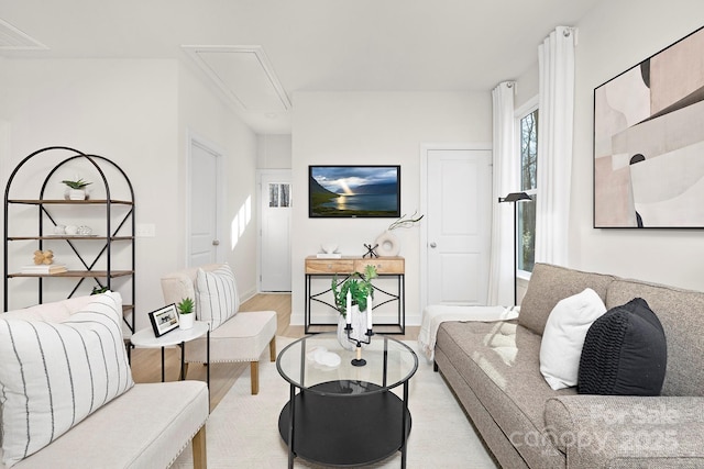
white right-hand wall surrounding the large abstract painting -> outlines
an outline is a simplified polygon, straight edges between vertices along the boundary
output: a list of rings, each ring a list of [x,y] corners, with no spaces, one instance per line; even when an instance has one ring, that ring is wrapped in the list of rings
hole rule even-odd
[[[570,265],[702,290],[697,230],[594,230],[593,91],[702,26],[701,0],[612,0],[579,23]]]

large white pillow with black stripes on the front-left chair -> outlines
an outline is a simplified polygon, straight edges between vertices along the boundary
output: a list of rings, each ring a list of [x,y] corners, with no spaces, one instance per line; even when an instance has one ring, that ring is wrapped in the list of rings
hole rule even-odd
[[[63,322],[0,314],[2,461],[38,451],[132,386],[118,293]],[[77,448],[78,449],[78,448]]]

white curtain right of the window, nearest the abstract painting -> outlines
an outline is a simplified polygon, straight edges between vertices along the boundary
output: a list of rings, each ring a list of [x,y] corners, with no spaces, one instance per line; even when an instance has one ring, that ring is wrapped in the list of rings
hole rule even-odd
[[[576,30],[558,26],[538,47],[540,70],[536,261],[566,265]]]

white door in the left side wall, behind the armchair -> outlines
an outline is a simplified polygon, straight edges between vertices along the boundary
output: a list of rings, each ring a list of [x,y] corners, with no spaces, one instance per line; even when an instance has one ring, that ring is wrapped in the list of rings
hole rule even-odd
[[[190,141],[190,203],[188,265],[202,266],[218,261],[220,155],[201,142]]]

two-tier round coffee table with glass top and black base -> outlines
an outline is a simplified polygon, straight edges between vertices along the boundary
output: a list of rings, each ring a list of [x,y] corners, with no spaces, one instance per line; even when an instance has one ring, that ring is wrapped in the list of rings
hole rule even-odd
[[[278,418],[289,468],[295,457],[351,467],[396,451],[406,467],[408,381],[418,357],[404,343],[374,335],[362,350],[366,364],[353,366],[355,358],[334,333],[306,336],[278,355],[276,368],[290,384],[290,399]]]

